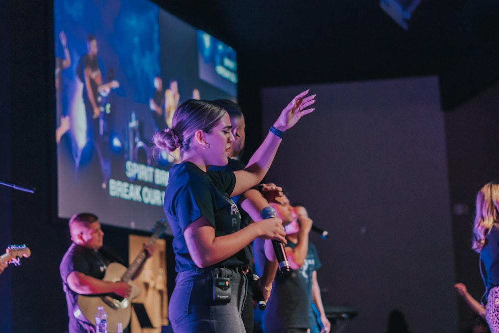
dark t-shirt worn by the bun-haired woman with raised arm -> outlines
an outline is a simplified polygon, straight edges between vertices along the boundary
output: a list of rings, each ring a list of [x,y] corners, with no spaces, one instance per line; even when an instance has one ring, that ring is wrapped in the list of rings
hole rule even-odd
[[[241,229],[239,209],[227,194],[232,193],[235,184],[236,177],[232,172],[204,172],[190,162],[170,169],[164,210],[173,233],[177,272],[196,267],[184,239],[184,230],[189,224],[204,216],[215,228],[215,236],[229,235]],[[234,255],[214,266],[242,264],[244,262]]]

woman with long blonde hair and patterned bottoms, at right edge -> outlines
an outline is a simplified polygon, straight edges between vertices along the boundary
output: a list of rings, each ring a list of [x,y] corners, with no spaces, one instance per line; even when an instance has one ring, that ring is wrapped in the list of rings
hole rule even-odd
[[[499,184],[487,183],[477,193],[472,249],[480,253],[485,320],[499,333]]]

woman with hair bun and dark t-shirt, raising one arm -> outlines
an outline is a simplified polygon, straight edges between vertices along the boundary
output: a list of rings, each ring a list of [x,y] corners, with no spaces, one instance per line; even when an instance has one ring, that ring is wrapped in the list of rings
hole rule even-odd
[[[176,286],[169,319],[176,333],[241,332],[241,309],[248,283],[243,248],[255,238],[285,242],[282,221],[265,219],[241,229],[236,204],[230,197],[257,185],[267,173],[284,132],[315,103],[308,90],[282,111],[245,169],[208,171],[227,164],[231,122],[218,104],[188,100],[174,113],[172,127],[156,133],[156,149],[180,148],[182,162],[170,169],[165,214],[173,232]]]

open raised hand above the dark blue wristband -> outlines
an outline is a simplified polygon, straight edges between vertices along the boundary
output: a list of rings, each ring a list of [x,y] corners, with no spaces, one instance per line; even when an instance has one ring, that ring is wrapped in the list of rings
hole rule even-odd
[[[315,96],[307,96],[310,89],[303,91],[301,94],[296,95],[293,100],[282,110],[279,118],[274,123],[274,127],[279,131],[286,131],[293,127],[298,120],[301,119],[306,114],[309,114],[315,110],[315,108],[309,109],[310,105],[315,103]]]

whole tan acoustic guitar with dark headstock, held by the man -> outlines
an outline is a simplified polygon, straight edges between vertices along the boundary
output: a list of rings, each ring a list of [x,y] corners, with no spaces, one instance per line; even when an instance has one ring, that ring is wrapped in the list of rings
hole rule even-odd
[[[146,246],[154,244],[158,237],[163,234],[165,228],[166,225],[164,220],[156,222],[153,235],[146,243]],[[76,307],[74,311],[75,317],[91,323],[92,325],[95,325],[94,316],[97,312],[97,307],[104,307],[104,310],[107,314],[108,332],[115,333],[118,323],[122,323],[123,329],[125,329],[130,323],[130,318],[132,316],[131,300],[133,300],[140,294],[140,287],[132,282],[132,277],[142,266],[145,260],[146,252],[145,250],[143,250],[135,258],[132,264],[130,264],[128,269],[119,263],[109,264],[102,280],[112,282],[128,282],[132,286],[132,292],[130,293],[130,296],[127,298],[122,298],[116,294],[107,294],[104,296],[79,295],[78,307]]]

